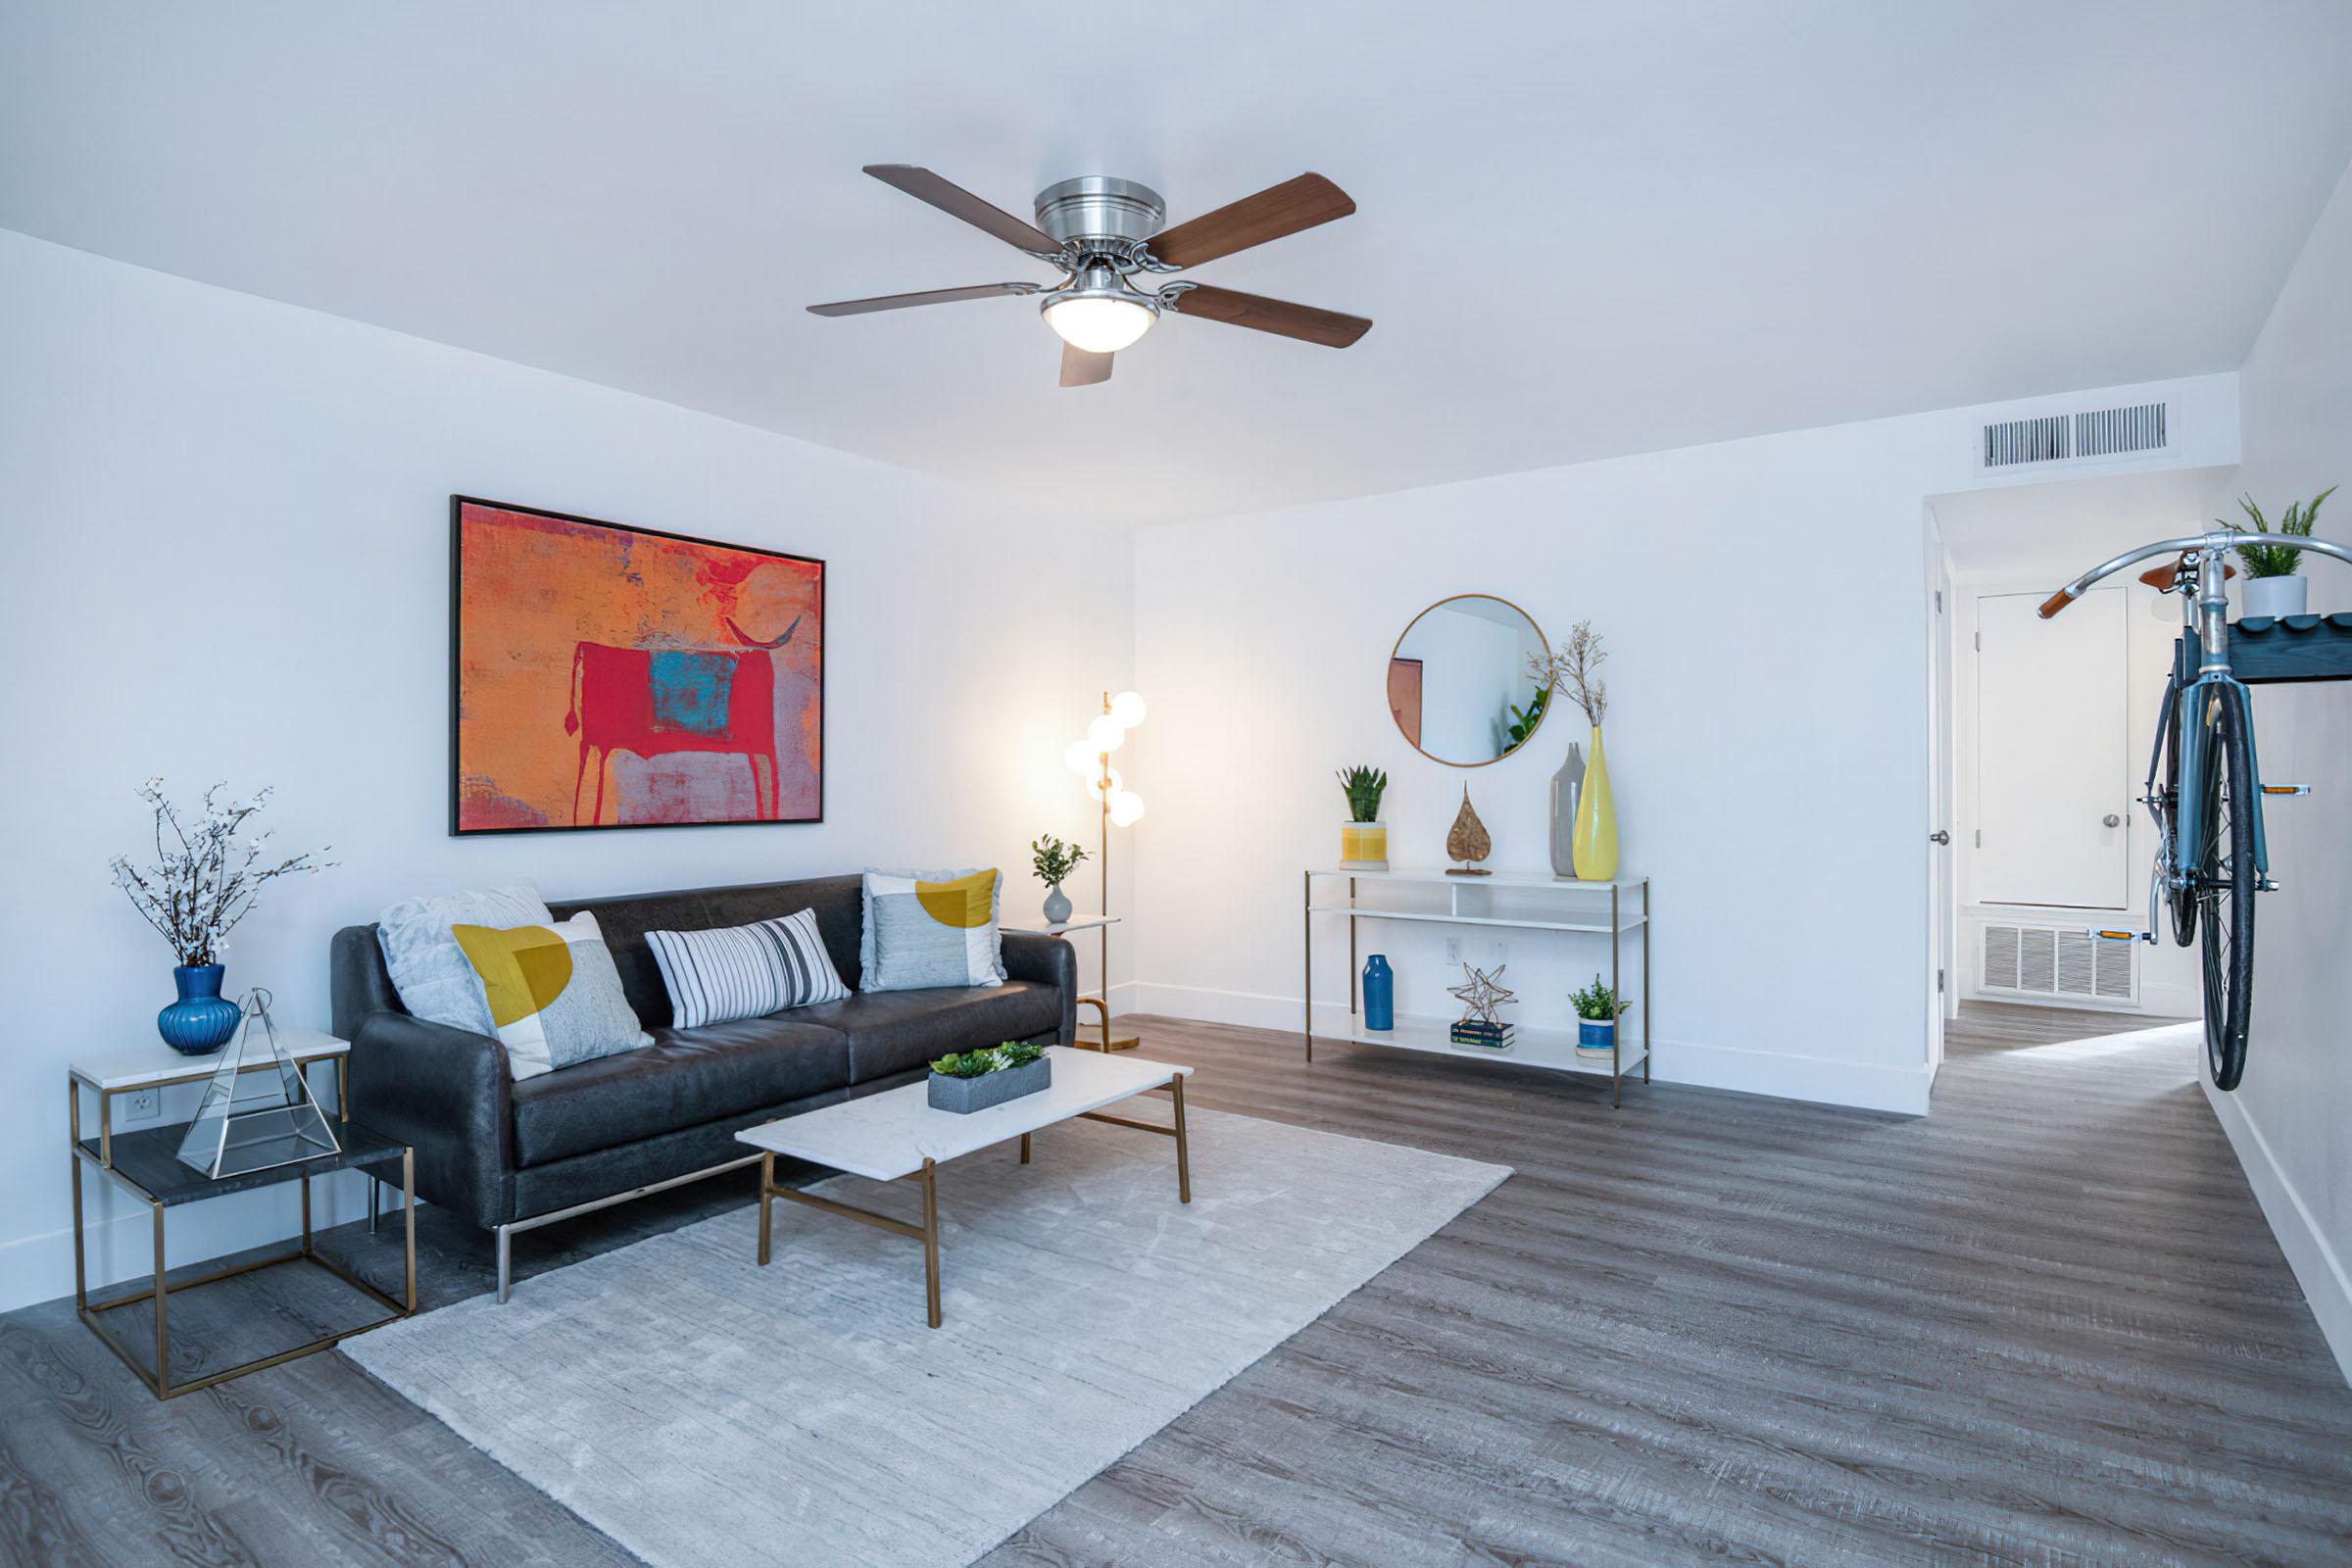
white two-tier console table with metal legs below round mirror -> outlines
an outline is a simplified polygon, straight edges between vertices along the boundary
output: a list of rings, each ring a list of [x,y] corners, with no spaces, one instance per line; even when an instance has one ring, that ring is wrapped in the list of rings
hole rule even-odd
[[[1345,884],[1345,903],[1341,903],[1341,889]],[[1418,889],[1446,889],[1444,910],[1388,910],[1378,905],[1357,903],[1357,896],[1367,886],[1418,886]],[[1322,903],[1317,903],[1322,893]],[[1541,914],[1496,914],[1496,898],[1470,898],[1465,910],[1465,893],[1510,893],[1515,905],[1545,905]],[[1649,877],[1621,877],[1616,882],[1566,882],[1559,877],[1538,877],[1526,872],[1494,872],[1491,877],[1449,877],[1444,870],[1388,870],[1388,872],[1352,872],[1334,867],[1310,867],[1305,872],[1305,1051],[1308,1060],[1315,1060],[1315,1039],[1345,1039],[1362,1046],[1399,1046],[1404,1051],[1435,1051],[1442,1056],[1477,1056],[1498,1058],[1505,1063],[1519,1063],[1526,1067],[1550,1067],[1555,1072],[1592,1072],[1611,1079],[1609,1103],[1621,1100],[1625,1079],[1632,1070],[1642,1070],[1642,1081],[1649,1081]],[[1338,1004],[1315,1004],[1315,917],[1317,914],[1345,914],[1348,917],[1348,1006]],[[1392,1030],[1367,1030],[1364,1016],[1357,1011],[1357,922],[1383,919],[1383,922],[1418,922],[1437,926],[1505,926],[1512,931],[1562,931],[1576,936],[1604,936],[1609,938],[1609,990],[1623,992],[1621,978],[1621,947],[1632,933],[1642,938],[1642,985],[1632,997],[1635,1013],[1639,1016],[1639,1044],[1625,1039],[1623,1023],[1618,1025],[1616,1046],[1606,1060],[1585,1060],[1576,1053],[1576,1030],[1534,1030],[1517,1025],[1517,1034],[1508,1048],[1494,1051],[1486,1046],[1456,1046],[1449,1030],[1449,1018],[1409,1018],[1397,1013]]]

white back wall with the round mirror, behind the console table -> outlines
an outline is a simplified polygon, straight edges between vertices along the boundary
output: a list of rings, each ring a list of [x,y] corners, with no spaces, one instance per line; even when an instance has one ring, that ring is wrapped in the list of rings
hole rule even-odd
[[[2161,465],[2234,461],[2234,378],[2004,404],[2169,397]],[[1983,409],[1802,430],[1437,489],[1150,529],[1136,541],[1136,679],[1155,832],[1138,1001],[1296,1027],[1301,867],[1336,860],[1331,769],[1385,766],[1390,858],[1442,863],[1463,783],[1494,865],[1548,872],[1545,783],[1581,715],[1458,771],[1406,748],[1383,668],[1451,592],[1498,592],[1557,642],[1609,639],[1623,872],[1656,879],[1653,1030],[1670,1079],[1926,1110],[1922,842],[1929,494],[1983,484]],[[2117,463],[2110,470],[2150,468]],[[1378,931],[1399,1011],[1444,1011],[1435,929]],[[1569,945],[1581,943],[1581,945]],[[1345,954],[1336,919],[1322,954]],[[1465,957],[1491,961],[1491,940]],[[1604,957],[1512,938],[1519,1018],[1566,1018]],[[1341,957],[1319,999],[1345,997]],[[1458,971],[1454,973],[1458,978]]]

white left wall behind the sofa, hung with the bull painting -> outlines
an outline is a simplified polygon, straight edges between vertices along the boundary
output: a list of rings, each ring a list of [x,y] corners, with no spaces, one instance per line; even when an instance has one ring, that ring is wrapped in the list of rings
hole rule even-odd
[[[452,491],[826,557],[826,823],[449,839]],[[12,233],[0,529],[0,1309],[73,1286],[68,1058],[153,1041],[172,999],[169,952],[106,877],[146,832],[136,780],[273,783],[280,844],[334,844],[228,954],[230,987],[325,1025],[329,933],[419,891],[997,863],[1028,910],[1030,837],[1094,842],[1061,750],[1129,684],[1124,536]],[[353,1213],[341,1180],[329,1218]],[[101,1232],[132,1232],[101,1234],[96,1279],[141,1274],[143,1213],[87,1192]],[[174,1220],[174,1262],[292,1227],[289,1187],[223,1199]]]

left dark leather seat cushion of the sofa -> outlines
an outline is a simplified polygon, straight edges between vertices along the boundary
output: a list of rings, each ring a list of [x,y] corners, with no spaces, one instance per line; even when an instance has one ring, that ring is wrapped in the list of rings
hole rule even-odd
[[[844,1084],[849,1037],[797,1016],[663,1027],[652,1046],[517,1081],[515,1164],[656,1138]]]

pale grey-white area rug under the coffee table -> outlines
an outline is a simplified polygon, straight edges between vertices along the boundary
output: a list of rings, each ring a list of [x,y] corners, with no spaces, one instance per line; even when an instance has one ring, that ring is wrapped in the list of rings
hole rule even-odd
[[[1171,1140],[1094,1121],[943,1166],[936,1331],[922,1244],[779,1201],[764,1269],[746,1206],[343,1354],[654,1568],[969,1563],[1510,1175],[1188,1121],[1190,1206]]]

